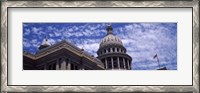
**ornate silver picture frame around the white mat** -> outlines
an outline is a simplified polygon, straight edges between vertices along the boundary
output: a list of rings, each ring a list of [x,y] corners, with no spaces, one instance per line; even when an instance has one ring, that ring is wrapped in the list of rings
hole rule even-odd
[[[192,86],[9,86],[7,84],[8,7],[190,7],[193,9]],[[194,92],[199,93],[199,1],[2,1],[1,92]]]

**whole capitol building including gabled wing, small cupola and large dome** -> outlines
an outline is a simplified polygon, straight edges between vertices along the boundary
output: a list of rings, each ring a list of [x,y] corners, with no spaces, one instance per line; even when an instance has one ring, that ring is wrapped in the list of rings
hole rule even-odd
[[[63,40],[51,45],[46,38],[36,54],[23,52],[23,70],[131,70],[132,58],[108,25],[97,57]]]

